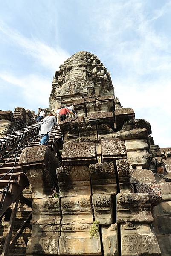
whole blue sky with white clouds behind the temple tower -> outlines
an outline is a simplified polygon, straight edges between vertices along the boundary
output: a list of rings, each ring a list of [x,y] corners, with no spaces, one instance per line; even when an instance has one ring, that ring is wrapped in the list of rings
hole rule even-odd
[[[171,0],[0,0],[0,109],[49,107],[52,77],[96,54],[115,96],[171,146]]]

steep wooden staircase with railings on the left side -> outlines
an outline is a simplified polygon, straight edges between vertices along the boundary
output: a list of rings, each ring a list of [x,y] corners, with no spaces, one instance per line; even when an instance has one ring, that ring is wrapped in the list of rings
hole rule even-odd
[[[21,227],[13,232],[14,221],[20,202],[23,202],[28,207],[32,206],[30,198],[28,199],[22,195],[23,190],[26,187],[28,188],[29,182],[18,162],[23,148],[40,145],[41,137],[38,135],[38,130],[38,124],[34,122],[20,130],[12,130],[11,133],[0,139],[0,220],[2,220],[4,215],[6,218],[9,218],[6,239],[5,241],[3,239],[2,242],[0,239],[0,253],[2,251],[2,256],[15,255],[14,252],[12,254],[9,253],[11,253],[12,247],[14,247],[23,230],[29,225],[32,217],[32,212],[30,211],[27,216],[24,216]],[[48,146],[55,154],[58,154],[58,148],[61,143],[61,130],[59,127],[54,127]],[[23,255],[23,250],[21,255]]]

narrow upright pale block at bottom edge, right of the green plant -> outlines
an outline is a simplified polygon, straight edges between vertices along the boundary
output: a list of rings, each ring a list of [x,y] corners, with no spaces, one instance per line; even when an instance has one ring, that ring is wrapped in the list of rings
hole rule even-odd
[[[118,256],[117,224],[102,226],[101,233],[104,256]]]

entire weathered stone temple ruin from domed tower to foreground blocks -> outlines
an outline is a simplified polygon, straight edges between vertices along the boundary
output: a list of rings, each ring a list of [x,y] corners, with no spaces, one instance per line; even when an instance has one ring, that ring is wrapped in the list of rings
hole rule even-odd
[[[171,148],[122,108],[110,72],[78,52],[55,72],[49,112],[73,105],[63,142],[23,149],[32,192],[27,256],[171,256]],[[16,254],[17,255],[17,254]]]

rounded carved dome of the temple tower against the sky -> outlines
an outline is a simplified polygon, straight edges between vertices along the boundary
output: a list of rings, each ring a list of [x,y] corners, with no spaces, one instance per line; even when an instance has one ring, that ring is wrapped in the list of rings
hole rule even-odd
[[[72,104],[92,95],[114,96],[110,72],[95,54],[77,52],[55,72],[50,108]]]

